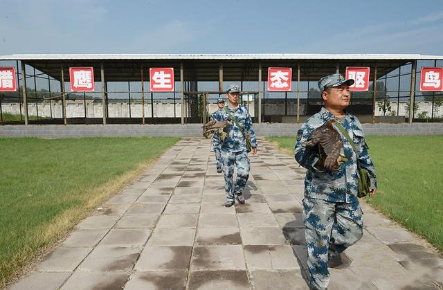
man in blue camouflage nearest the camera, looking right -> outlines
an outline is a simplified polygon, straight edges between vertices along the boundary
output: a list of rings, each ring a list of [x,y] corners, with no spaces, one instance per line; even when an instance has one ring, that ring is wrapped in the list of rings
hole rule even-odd
[[[368,154],[363,128],[355,116],[345,111],[350,104],[349,86],[352,84],[354,80],[345,80],[338,73],[320,79],[318,87],[325,107],[311,116],[297,133],[295,158],[307,169],[303,221],[313,289],[326,289],[329,284],[329,259],[340,260],[339,254],[363,235],[362,211],[357,197],[356,158],[359,158],[360,166],[368,170],[370,194],[377,190],[374,164]],[[305,145],[311,132],[330,118],[335,118],[345,128],[357,151],[356,155],[350,142],[334,125],[343,139],[341,153],[348,158],[343,165],[336,163],[336,170],[326,170],[316,147],[308,149]]]

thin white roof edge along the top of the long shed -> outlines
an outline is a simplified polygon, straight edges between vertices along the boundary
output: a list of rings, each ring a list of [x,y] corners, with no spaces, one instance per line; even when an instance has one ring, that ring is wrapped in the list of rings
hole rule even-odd
[[[17,54],[0,60],[443,60],[443,55],[419,54]]]

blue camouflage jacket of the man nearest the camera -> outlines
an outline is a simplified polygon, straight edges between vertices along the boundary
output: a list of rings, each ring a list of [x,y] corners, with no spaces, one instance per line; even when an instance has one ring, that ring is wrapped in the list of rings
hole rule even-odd
[[[311,132],[323,125],[329,118],[336,117],[323,107],[320,112],[307,119],[297,133],[295,158],[302,167],[307,169],[305,196],[326,201],[353,202],[358,199],[357,185],[359,173],[356,164],[357,156],[354,149],[352,149],[352,145],[347,141],[347,138],[343,136],[340,130],[334,125],[336,131],[340,133],[343,139],[341,153],[348,158],[348,161],[342,164],[338,171],[319,170],[318,167],[315,166],[318,161],[316,147],[308,149],[305,146],[305,141],[307,141]],[[377,188],[374,164],[369,156],[368,145],[365,142],[365,134],[363,134],[363,128],[359,120],[355,116],[346,113],[345,117],[338,122],[345,128],[347,134],[352,138],[352,141],[354,141],[360,166],[368,170],[371,182],[370,189]]]

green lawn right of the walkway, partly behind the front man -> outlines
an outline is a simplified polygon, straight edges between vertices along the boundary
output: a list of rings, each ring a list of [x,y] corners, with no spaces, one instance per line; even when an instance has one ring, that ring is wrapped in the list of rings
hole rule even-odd
[[[266,138],[293,155],[295,137]],[[443,251],[443,136],[367,136],[377,172],[368,201]]]

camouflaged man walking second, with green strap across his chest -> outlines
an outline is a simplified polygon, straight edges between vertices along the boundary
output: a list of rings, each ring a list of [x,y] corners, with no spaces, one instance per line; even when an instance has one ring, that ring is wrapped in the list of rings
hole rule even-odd
[[[223,120],[230,120],[228,126],[224,128],[224,132],[228,134],[226,140],[221,143],[221,160],[223,161],[225,191],[226,191],[226,207],[230,207],[235,203],[235,199],[244,204],[243,190],[248,181],[251,163],[249,162],[248,152],[246,151],[246,140],[225,109],[232,114],[239,125],[242,127],[244,134],[248,134],[251,138],[252,154],[257,154],[257,140],[252,129],[252,120],[246,107],[239,105],[239,86],[230,85],[226,90],[226,98],[228,98],[228,106],[224,107],[219,113]],[[235,183],[233,174],[237,172]]]

